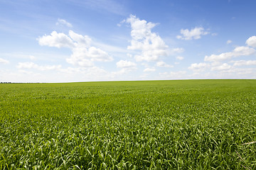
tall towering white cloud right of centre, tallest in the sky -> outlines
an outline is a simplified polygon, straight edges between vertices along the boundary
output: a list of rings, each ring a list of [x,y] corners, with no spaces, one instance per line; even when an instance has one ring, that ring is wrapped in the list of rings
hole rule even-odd
[[[135,55],[137,62],[151,62],[159,60],[159,57],[167,55],[168,46],[164,40],[156,33],[151,33],[151,28],[156,26],[156,23],[146,22],[140,20],[136,16],[130,16],[126,20],[130,23],[131,31],[131,45],[127,47],[128,50],[139,50],[140,54]]]

